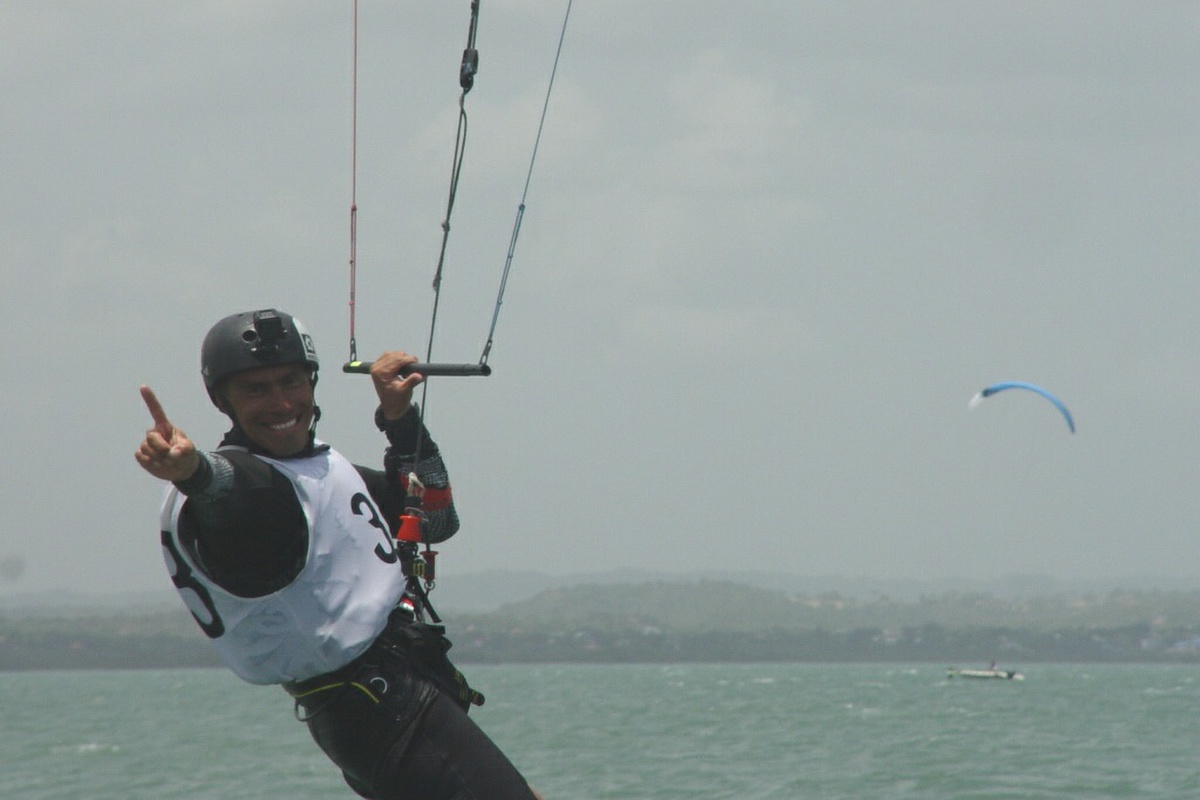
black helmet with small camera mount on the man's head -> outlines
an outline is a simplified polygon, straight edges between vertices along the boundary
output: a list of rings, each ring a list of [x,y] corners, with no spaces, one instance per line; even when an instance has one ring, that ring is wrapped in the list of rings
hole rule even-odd
[[[200,375],[217,408],[216,387],[245,369],[302,363],[317,378],[317,348],[304,325],[292,314],[274,308],[226,317],[204,337]]]

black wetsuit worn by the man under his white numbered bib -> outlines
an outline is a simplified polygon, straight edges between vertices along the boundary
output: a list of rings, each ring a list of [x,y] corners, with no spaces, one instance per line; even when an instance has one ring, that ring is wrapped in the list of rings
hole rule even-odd
[[[407,475],[415,471],[427,493],[440,498],[426,511],[422,530],[431,542],[449,539],[458,530],[458,517],[442,457],[419,414],[390,422],[377,414],[376,421],[389,441],[384,470],[356,469],[392,533],[404,507]],[[222,445],[253,450],[238,428]],[[311,445],[298,457],[308,455]],[[204,453],[200,463],[194,476],[178,485],[187,495],[180,515],[182,546],[214,583],[241,597],[287,587],[304,567],[308,547],[292,482],[242,450]],[[374,644],[349,664],[284,685],[298,717],[365,798],[530,800],[534,794],[521,774],[467,716],[482,696],[446,658],[450,643],[442,627],[409,608],[397,607]]]

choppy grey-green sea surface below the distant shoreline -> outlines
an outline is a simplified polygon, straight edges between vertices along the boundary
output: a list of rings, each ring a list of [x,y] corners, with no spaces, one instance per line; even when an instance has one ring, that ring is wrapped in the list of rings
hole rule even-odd
[[[977,664],[960,664],[977,666]],[[1200,668],[472,666],[546,800],[1200,798]],[[223,670],[0,673],[4,800],[353,799],[282,691]]]

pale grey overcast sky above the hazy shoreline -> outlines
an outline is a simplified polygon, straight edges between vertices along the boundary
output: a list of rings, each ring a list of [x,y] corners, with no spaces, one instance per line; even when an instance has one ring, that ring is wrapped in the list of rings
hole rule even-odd
[[[565,2],[484,0],[436,361],[480,357]],[[361,4],[358,347],[425,355],[469,2]],[[0,6],[0,596],[169,589],[146,383],[276,306],[349,354],[352,4]],[[575,4],[443,575],[1188,578],[1200,5]],[[1027,380],[1074,413],[1072,435]],[[1200,577],[1194,581],[1200,585]]]

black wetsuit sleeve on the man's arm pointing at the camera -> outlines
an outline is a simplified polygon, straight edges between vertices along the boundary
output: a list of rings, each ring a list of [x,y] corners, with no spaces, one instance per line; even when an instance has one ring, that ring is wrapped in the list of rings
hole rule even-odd
[[[271,464],[236,450],[203,453],[197,474],[176,486],[187,495],[180,543],[218,587],[260,597],[304,569],[308,524],[292,481]]]

